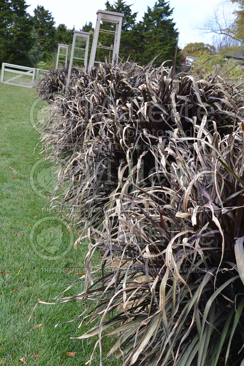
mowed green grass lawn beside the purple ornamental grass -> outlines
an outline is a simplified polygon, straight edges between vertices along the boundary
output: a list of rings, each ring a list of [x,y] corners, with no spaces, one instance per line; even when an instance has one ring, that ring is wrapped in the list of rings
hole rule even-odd
[[[40,158],[39,147],[33,154],[39,135],[29,121],[36,98],[34,89],[0,84],[0,364],[21,365],[24,357],[26,365],[83,366],[97,339],[90,344],[86,340],[70,340],[88,329],[86,325],[78,329],[80,320],[59,325],[55,330],[54,325],[77,317],[84,304],[39,304],[28,323],[38,298],[52,302],[80,277],[70,271],[74,267],[83,270],[86,255],[84,245],[76,251],[72,248],[59,260],[47,261],[30,246],[31,227],[42,217],[50,216],[41,212],[46,200],[34,193],[29,180],[31,167]],[[78,281],[66,294],[82,292],[83,284],[84,280]],[[105,340],[104,355],[111,345]],[[68,356],[64,352],[76,354]],[[93,365],[99,365],[99,352]],[[121,365],[121,361],[111,357],[103,365]]]

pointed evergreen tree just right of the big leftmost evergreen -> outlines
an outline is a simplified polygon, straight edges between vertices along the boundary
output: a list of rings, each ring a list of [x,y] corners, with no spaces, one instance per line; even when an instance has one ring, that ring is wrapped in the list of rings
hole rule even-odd
[[[53,52],[57,46],[57,41],[55,40],[56,29],[52,13],[45,10],[43,6],[37,5],[37,8],[34,9],[33,22],[41,51]]]

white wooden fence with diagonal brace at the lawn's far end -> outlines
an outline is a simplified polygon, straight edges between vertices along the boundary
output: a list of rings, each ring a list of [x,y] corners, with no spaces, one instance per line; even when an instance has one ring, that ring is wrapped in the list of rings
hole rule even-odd
[[[48,72],[33,67],[2,63],[1,83],[33,88],[37,86],[38,78]]]

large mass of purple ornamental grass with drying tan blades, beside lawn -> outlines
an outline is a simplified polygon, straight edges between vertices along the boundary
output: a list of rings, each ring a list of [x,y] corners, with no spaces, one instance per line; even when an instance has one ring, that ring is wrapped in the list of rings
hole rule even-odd
[[[89,242],[85,291],[57,301],[94,303],[79,338],[117,335],[121,365],[241,365],[243,91],[171,72],[100,65],[54,101],[72,187],[51,203]]]

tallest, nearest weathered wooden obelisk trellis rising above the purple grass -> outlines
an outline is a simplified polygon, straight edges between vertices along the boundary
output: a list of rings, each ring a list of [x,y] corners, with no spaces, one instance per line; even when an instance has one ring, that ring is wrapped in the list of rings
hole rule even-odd
[[[94,66],[94,63],[100,63],[100,61],[95,61],[95,55],[97,48],[107,49],[107,50],[113,50],[113,56],[112,56],[112,64],[118,63],[118,57],[119,57],[119,48],[120,48],[120,34],[121,34],[121,26],[122,26],[122,19],[124,16],[124,13],[117,13],[115,11],[107,11],[107,10],[98,10],[97,11],[97,23],[95,26],[95,32],[93,36],[93,42],[91,47],[91,56],[90,56],[90,62],[89,62],[89,68]],[[115,23],[116,24],[116,30],[106,30],[106,29],[100,29],[101,22],[109,22],[109,23]],[[109,34],[115,34],[115,41],[113,48],[97,45],[98,42],[98,34],[99,32],[102,33],[109,33]]]

